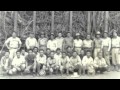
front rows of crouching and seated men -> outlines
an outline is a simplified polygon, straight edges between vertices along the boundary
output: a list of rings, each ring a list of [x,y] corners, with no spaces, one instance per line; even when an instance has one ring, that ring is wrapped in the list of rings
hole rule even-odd
[[[66,73],[78,72],[79,75],[95,74],[98,71],[103,73],[107,71],[108,65],[106,60],[102,57],[102,52],[99,52],[97,57],[93,60],[91,57],[91,51],[87,51],[86,55],[81,57],[76,51],[73,51],[71,57],[66,52],[61,52],[58,48],[56,52],[48,49],[47,53],[44,50],[37,51],[29,49],[28,53],[24,49],[16,52],[16,56],[13,60],[9,57],[9,52],[5,53],[5,56],[1,59],[2,70],[9,75],[33,74],[33,75],[46,75],[46,74],[58,74],[63,75]]]

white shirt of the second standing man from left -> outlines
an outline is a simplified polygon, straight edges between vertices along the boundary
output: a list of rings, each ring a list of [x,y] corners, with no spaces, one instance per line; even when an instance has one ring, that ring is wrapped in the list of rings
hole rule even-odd
[[[34,47],[38,47],[38,42],[36,38],[28,37],[25,41],[27,49],[33,49]]]

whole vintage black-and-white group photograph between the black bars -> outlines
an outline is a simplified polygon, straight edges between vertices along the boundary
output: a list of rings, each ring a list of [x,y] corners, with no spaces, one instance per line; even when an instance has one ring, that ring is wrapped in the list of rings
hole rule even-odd
[[[0,11],[0,79],[120,79],[120,11]]]

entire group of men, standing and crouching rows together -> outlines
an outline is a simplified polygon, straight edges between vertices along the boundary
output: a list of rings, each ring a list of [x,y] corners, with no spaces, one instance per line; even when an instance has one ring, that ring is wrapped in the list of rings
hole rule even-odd
[[[64,74],[78,72],[80,75],[93,74],[100,71],[120,70],[120,37],[117,31],[113,31],[110,38],[107,32],[104,37],[96,32],[94,40],[87,34],[86,39],[80,38],[80,33],[76,33],[73,38],[68,32],[66,37],[59,32],[55,37],[51,33],[50,39],[42,32],[37,40],[33,33],[25,41],[26,49],[21,48],[20,38],[13,32],[12,37],[5,41],[9,51],[1,59],[1,68],[9,75],[14,74]],[[110,62],[112,53],[112,63]]]

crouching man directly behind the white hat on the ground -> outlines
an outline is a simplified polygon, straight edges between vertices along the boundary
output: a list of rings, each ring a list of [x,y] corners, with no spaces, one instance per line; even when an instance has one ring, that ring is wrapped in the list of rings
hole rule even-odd
[[[80,75],[81,70],[82,70],[81,58],[78,56],[77,52],[74,51],[72,57],[70,58],[69,71],[78,72],[78,74]]]

